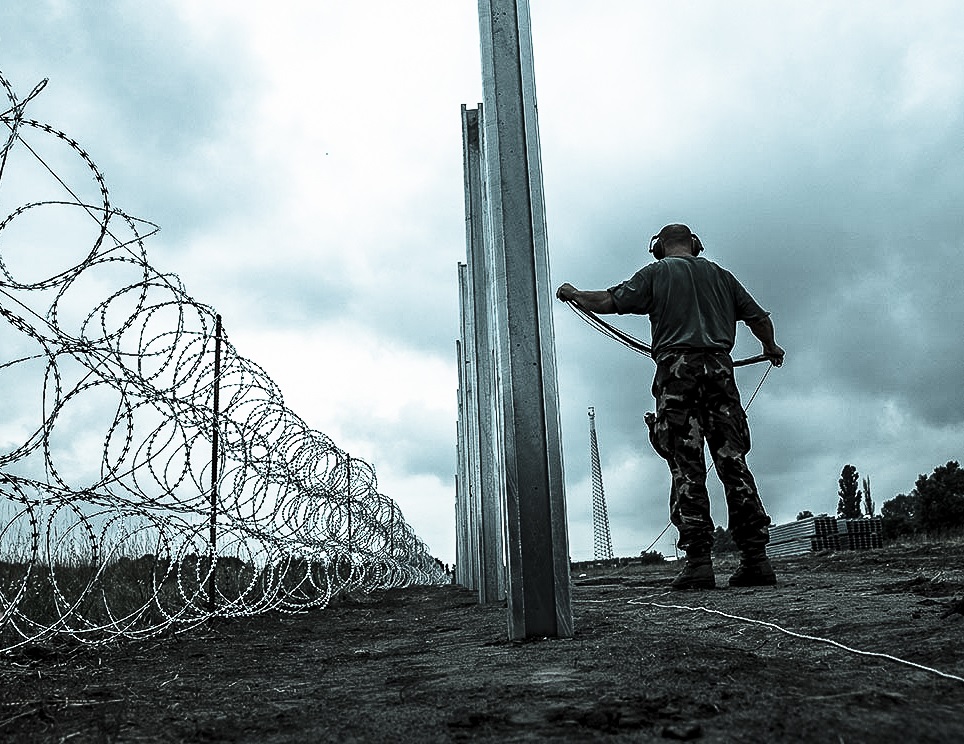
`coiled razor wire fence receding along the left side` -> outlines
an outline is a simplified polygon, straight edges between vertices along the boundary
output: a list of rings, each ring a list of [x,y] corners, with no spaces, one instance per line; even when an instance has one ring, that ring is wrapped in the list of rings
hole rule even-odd
[[[446,581],[372,466],[151,266],[158,227],[25,116],[45,85],[0,73],[0,650]]]

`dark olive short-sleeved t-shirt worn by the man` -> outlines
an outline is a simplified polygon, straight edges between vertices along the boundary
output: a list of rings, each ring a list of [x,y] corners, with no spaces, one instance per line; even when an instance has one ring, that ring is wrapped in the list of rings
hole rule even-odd
[[[654,357],[678,349],[729,352],[738,320],[769,315],[729,271],[698,256],[666,256],[609,293],[619,314],[649,316]]]

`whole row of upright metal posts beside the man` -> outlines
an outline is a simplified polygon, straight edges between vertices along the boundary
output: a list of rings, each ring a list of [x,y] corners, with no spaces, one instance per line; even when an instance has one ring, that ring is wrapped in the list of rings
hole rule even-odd
[[[527,0],[480,0],[483,104],[462,107],[456,581],[509,636],[572,635],[552,292]]]

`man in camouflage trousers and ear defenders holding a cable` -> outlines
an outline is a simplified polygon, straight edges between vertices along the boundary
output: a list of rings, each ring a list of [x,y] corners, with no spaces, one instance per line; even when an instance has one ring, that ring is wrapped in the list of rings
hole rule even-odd
[[[667,225],[650,242],[655,263],[607,290],[563,284],[560,300],[596,313],[648,315],[656,375],[656,413],[646,415],[650,441],[672,475],[670,518],[679,530],[686,565],[674,589],[716,586],[710,551],[713,520],[706,491],[704,442],[726,493],[729,528],[741,552],[730,586],[766,586],[776,575],[766,556],[770,518],[746,463],[750,431],[733,378],[730,351],[743,321],[776,366],[784,351],[773,324],[737,279],[699,253],[699,238],[685,225]]]

